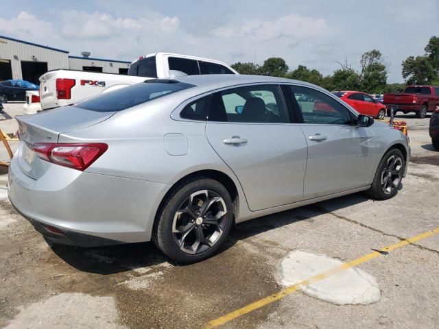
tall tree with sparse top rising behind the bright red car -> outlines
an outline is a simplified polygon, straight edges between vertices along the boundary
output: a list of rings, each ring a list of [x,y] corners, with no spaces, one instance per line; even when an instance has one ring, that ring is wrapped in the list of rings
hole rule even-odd
[[[365,93],[381,93],[387,83],[387,67],[381,51],[366,51],[359,61],[361,71],[358,74],[359,87]]]

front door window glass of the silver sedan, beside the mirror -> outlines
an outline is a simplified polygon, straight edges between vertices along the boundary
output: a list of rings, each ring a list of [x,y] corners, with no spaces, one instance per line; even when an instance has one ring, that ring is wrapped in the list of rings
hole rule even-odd
[[[324,93],[307,87],[292,86],[293,93],[304,97],[297,99],[304,123],[325,125],[350,125],[351,115],[347,108]]]

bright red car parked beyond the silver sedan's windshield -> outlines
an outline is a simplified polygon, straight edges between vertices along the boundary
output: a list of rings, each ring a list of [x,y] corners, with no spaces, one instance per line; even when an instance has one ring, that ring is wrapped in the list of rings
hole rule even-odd
[[[355,110],[361,114],[370,115],[370,117],[380,120],[385,117],[385,105],[379,103],[379,101],[373,99],[372,96],[366,93],[361,93],[361,91],[342,90],[334,91],[333,94],[346,101],[346,103],[355,108]]]

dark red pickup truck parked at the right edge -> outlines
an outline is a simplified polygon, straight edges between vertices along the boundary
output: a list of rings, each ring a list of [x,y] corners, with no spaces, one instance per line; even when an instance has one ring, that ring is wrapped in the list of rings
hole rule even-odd
[[[396,112],[415,112],[416,117],[425,118],[427,112],[433,112],[439,104],[439,87],[407,86],[402,94],[384,94],[383,104],[387,106],[388,116],[393,106]]]

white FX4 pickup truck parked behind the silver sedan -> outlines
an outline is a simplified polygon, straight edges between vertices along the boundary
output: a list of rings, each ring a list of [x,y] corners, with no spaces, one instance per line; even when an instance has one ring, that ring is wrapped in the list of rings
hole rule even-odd
[[[128,75],[62,69],[48,71],[40,77],[41,108],[48,110],[67,106],[148,79],[166,79],[182,73],[238,74],[230,66],[217,60],[176,53],[151,53],[132,62]]]

